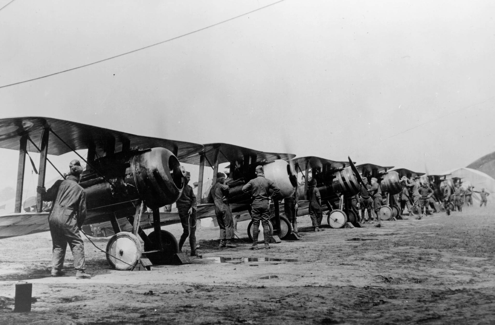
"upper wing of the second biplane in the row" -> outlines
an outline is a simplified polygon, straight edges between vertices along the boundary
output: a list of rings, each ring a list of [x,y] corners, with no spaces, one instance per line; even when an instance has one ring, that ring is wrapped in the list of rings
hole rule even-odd
[[[296,155],[293,154],[262,152],[228,143],[208,143],[204,145],[204,149],[202,151],[206,157],[206,165],[212,166],[214,164],[216,149],[220,149],[218,163],[243,161],[245,156],[256,156],[256,161],[258,162],[262,160],[272,162],[277,159],[288,161],[296,157]],[[199,155],[193,154],[189,157],[182,157],[181,162],[198,165]]]

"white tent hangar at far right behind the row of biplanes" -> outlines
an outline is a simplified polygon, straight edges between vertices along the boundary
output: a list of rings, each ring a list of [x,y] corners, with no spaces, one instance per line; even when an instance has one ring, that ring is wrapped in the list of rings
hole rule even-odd
[[[482,171],[462,167],[446,171],[444,173],[441,173],[441,175],[448,175],[447,178],[460,177],[461,182],[469,181],[473,185],[475,191],[481,192],[481,189],[484,188],[485,192],[490,193],[487,198],[488,202],[495,201],[495,179]],[[478,193],[473,193],[473,202],[475,204],[480,203],[480,200],[480,195]]]

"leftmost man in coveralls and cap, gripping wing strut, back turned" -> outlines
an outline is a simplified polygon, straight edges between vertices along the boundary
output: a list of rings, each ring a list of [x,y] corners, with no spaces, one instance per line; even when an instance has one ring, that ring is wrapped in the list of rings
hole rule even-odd
[[[65,180],[56,181],[48,191],[44,187],[36,189],[43,201],[53,201],[48,217],[53,243],[51,276],[64,275],[63,261],[69,244],[74,256],[76,279],[89,279],[91,275],[84,271],[84,242],[79,234],[86,219],[86,192],[78,184],[83,168],[77,160],[73,160],[69,166],[70,174]]]

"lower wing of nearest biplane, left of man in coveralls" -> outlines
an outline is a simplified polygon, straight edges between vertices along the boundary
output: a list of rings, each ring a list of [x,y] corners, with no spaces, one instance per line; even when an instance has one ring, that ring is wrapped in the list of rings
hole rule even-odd
[[[0,216],[0,238],[48,231],[48,214],[49,212],[12,213]]]

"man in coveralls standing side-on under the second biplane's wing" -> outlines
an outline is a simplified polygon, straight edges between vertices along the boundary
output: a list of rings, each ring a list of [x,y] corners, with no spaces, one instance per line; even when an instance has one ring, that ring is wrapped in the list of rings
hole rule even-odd
[[[215,203],[215,214],[220,227],[220,244],[218,247],[235,248],[237,245],[232,244],[231,238],[234,237],[234,221],[232,220],[232,210],[227,201],[229,198],[230,188],[225,185],[225,174],[218,172],[217,181],[211,187],[210,195]]]

